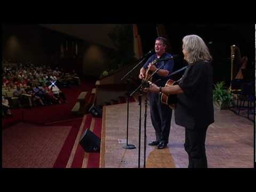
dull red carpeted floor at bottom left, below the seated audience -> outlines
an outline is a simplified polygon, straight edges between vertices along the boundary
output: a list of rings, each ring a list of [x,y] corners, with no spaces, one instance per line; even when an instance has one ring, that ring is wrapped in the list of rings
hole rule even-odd
[[[18,123],[3,130],[3,167],[51,168],[71,126]]]

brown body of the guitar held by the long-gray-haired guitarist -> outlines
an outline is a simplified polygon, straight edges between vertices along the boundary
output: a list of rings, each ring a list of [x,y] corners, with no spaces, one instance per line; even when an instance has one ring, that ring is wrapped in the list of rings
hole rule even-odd
[[[172,79],[169,79],[166,82],[165,87],[171,86],[171,85],[177,85],[177,84],[178,84],[178,82],[173,81]],[[165,94],[165,93],[162,93],[161,101],[165,105],[169,106],[171,109],[175,109],[176,103],[178,102],[177,94]]]

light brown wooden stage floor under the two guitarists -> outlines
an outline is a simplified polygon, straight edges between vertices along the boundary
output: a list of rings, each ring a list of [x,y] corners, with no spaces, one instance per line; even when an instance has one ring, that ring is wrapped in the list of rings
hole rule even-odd
[[[126,103],[103,108],[100,167],[138,167],[139,105],[130,103],[129,144],[136,149],[124,149],[126,144]],[[141,113],[140,167],[144,165],[144,114]],[[215,110],[215,122],[206,135],[206,155],[209,168],[251,168],[254,166],[254,125],[252,121],[230,110]],[[147,112],[147,143],[155,140],[150,111]],[[172,115],[169,143],[165,149],[146,146],[147,168],[186,168],[188,155],[184,150],[185,129],[174,122]]]

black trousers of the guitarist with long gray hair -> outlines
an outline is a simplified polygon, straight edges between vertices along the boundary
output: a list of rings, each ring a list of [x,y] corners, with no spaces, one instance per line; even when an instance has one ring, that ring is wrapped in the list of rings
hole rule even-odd
[[[184,147],[188,153],[188,168],[207,168],[205,153],[206,131],[207,127],[185,129]]]

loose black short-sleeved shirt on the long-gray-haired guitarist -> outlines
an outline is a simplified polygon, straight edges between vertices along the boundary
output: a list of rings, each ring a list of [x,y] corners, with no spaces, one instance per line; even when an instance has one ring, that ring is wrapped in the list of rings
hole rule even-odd
[[[209,62],[190,64],[179,82],[175,123],[188,129],[206,127],[214,122],[212,66]]]

